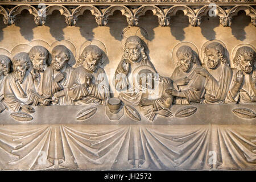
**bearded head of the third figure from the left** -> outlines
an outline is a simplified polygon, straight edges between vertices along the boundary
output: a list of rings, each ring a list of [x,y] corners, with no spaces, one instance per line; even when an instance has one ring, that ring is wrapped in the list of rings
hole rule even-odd
[[[30,60],[35,70],[43,72],[47,68],[49,53],[43,46],[34,46],[30,49]]]

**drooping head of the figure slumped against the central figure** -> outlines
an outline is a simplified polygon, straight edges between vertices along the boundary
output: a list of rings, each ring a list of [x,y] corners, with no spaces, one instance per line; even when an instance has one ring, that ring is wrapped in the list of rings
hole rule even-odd
[[[142,91],[146,91],[147,89],[154,89],[155,73],[149,69],[142,69],[137,75],[137,82],[139,84],[139,88]]]

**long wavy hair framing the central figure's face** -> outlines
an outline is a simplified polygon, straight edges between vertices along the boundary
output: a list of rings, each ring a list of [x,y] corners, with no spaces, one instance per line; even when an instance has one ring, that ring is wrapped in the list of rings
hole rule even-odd
[[[122,59],[123,60],[126,60],[126,59],[129,59],[128,55],[128,49],[127,49],[127,44],[128,43],[137,43],[138,46],[139,46],[139,49],[141,49],[141,55],[142,55],[142,61],[147,61],[148,60],[148,57],[147,57],[147,54],[146,52],[144,51],[144,46],[142,44],[142,40],[141,38],[139,38],[138,36],[130,36],[129,38],[127,38],[126,42],[125,42],[125,51],[123,52],[123,56],[122,56]]]

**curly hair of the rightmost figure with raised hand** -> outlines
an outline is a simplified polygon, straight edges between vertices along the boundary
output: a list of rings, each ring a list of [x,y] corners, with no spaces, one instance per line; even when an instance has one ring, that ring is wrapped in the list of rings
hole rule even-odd
[[[241,62],[241,55],[247,55],[248,57],[250,57],[251,64],[254,65],[256,59],[255,51],[248,46],[243,46],[237,49],[236,56],[233,59],[233,63],[236,67]]]

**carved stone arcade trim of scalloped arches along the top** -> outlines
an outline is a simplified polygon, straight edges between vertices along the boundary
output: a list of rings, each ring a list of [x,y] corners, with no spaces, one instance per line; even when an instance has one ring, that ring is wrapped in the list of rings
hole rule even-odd
[[[256,5],[256,4],[255,4]],[[75,7],[75,8],[74,8]],[[238,11],[245,11],[247,16],[251,17],[251,23],[256,26],[256,11],[254,4],[252,5],[216,5],[215,7],[209,5],[58,5],[46,3],[45,6],[18,4],[13,5],[11,9],[7,8],[5,4],[0,4],[0,14],[3,15],[4,23],[10,26],[15,22],[15,16],[20,14],[23,10],[28,10],[34,16],[35,23],[42,26],[46,22],[48,15],[57,10],[61,15],[65,16],[65,22],[68,26],[75,26],[79,20],[79,16],[85,10],[89,10],[95,16],[98,26],[106,26],[108,24],[108,17],[113,15],[114,11],[121,11],[123,16],[126,16],[129,26],[137,26],[139,17],[143,16],[146,11],[150,10],[158,17],[160,26],[169,26],[170,16],[175,16],[177,11],[183,11],[185,16],[188,16],[189,23],[192,26],[200,26],[201,17],[209,14],[210,16],[219,16],[220,24],[224,27],[229,27],[232,23],[232,17],[237,15]]]

